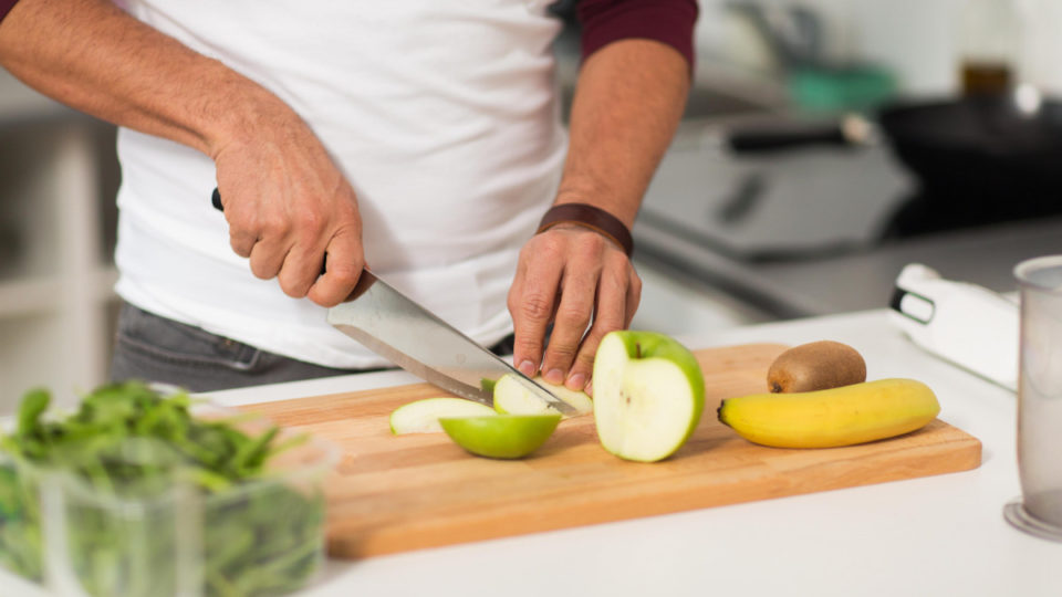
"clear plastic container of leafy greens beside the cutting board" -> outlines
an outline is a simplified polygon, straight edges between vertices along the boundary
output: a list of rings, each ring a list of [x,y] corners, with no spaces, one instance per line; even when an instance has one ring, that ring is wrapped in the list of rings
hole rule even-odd
[[[43,579],[43,536],[54,536],[43,510],[61,513],[66,559],[92,596],[275,595],[319,567],[321,488],[269,468],[304,436],[199,419],[187,395],[136,381],[102,386],[61,419],[44,416],[49,401],[27,392],[17,428],[0,436],[0,566]],[[60,510],[42,505],[45,492]],[[194,562],[177,556],[183,541]]]

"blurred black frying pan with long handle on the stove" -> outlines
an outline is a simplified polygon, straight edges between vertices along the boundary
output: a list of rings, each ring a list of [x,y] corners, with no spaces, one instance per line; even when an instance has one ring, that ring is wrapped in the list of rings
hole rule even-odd
[[[918,180],[893,235],[1062,213],[1060,102],[1031,111],[1010,96],[894,104],[870,126]],[[862,142],[841,123],[728,135],[737,155]]]

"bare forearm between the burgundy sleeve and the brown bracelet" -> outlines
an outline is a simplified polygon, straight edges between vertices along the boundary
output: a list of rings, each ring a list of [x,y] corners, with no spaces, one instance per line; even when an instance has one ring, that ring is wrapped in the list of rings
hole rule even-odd
[[[591,203],[629,228],[688,92],[689,64],[664,43],[628,39],[594,52],[575,91],[556,203]]]

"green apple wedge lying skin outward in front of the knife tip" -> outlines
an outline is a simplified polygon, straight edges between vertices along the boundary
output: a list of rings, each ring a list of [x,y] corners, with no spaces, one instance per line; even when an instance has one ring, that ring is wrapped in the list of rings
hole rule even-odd
[[[442,418],[439,425],[458,446],[487,458],[523,458],[545,443],[560,415],[489,415]]]

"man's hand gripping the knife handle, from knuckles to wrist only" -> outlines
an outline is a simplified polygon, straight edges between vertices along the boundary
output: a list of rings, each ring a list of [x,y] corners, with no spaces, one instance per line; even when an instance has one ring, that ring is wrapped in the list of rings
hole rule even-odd
[[[250,258],[256,276],[277,277],[289,296],[334,306],[365,265],[357,199],[313,132],[294,113],[279,112],[214,153],[229,241]]]

